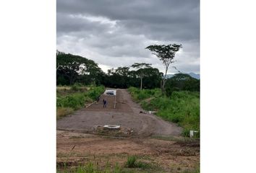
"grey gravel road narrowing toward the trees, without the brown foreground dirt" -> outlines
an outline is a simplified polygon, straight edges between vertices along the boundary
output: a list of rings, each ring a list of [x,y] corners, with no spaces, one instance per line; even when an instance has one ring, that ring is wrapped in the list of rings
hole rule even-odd
[[[103,99],[108,102],[106,108],[103,108]],[[142,110],[140,105],[132,101],[127,89],[117,89],[116,109],[114,109],[114,96],[102,95],[98,104],[95,103],[58,120],[57,130],[94,133],[98,125],[121,125],[122,128],[132,129],[132,136],[181,134],[182,128],[176,124],[144,112],[146,111]]]

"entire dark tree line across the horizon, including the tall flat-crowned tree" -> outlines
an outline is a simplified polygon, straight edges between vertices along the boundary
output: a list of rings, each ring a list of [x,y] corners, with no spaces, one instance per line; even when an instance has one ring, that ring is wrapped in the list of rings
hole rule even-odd
[[[200,80],[188,74],[175,74],[171,79],[166,79],[166,74],[171,63],[174,63],[176,52],[182,45],[150,45],[148,49],[157,56],[165,67],[165,74],[158,68],[153,68],[150,63],[133,63],[108,69],[105,73],[93,60],[70,53],[56,53],[56,83],[57,85],[96,84],[111,88],[128,88],[129,86],[140,89],[161,88],[163,94],[171,94],[175,90],[199,91]]]

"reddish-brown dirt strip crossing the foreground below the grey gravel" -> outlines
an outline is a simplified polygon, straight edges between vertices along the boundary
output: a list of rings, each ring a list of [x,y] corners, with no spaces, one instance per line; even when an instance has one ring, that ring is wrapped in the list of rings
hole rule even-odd
[[[100,167],[124,165],[128,156],[157,165],[151,172],[189,172],[200,161],[199,141],[166,141],[156,138],[103,138],[57,130],[57,167],[75,167],[89,161]],[[145,171],[148,172],[148,171]]]

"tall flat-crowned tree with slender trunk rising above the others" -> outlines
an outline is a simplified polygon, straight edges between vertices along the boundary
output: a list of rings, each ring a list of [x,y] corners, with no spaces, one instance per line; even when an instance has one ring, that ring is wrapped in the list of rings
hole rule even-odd
[[[163,82],[161,84],[162,94],[165,92],[166,74],[171,63],[174,63],[174,57],[176,52],[182,48],[182,45],[170,44],[170,45],[149,45],[147,48],[153,55],[157,56],[165,67],[165,74],[163,76]]]

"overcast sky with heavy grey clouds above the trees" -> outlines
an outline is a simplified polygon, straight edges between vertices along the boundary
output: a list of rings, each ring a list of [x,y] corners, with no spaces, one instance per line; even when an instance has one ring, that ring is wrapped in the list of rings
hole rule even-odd
[[[148,45],[182,44],[168,74],[200,73],[199,0],[57,0],[56,48],[98,63],[103,71],[151,63]]]

